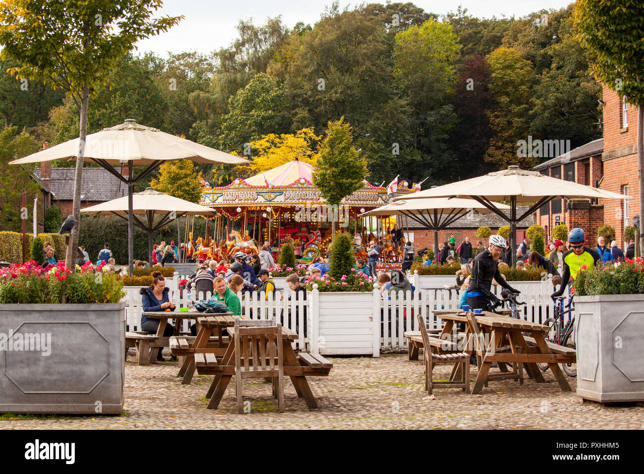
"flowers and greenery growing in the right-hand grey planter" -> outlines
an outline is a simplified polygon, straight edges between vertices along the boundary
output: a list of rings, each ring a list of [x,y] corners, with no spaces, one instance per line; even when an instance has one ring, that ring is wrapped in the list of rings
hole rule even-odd
[[[579,272],[573,288],[578,296],[644,293],[644,260],[638,257],[607,262],[605,266],[595,266],[592,272]]]

